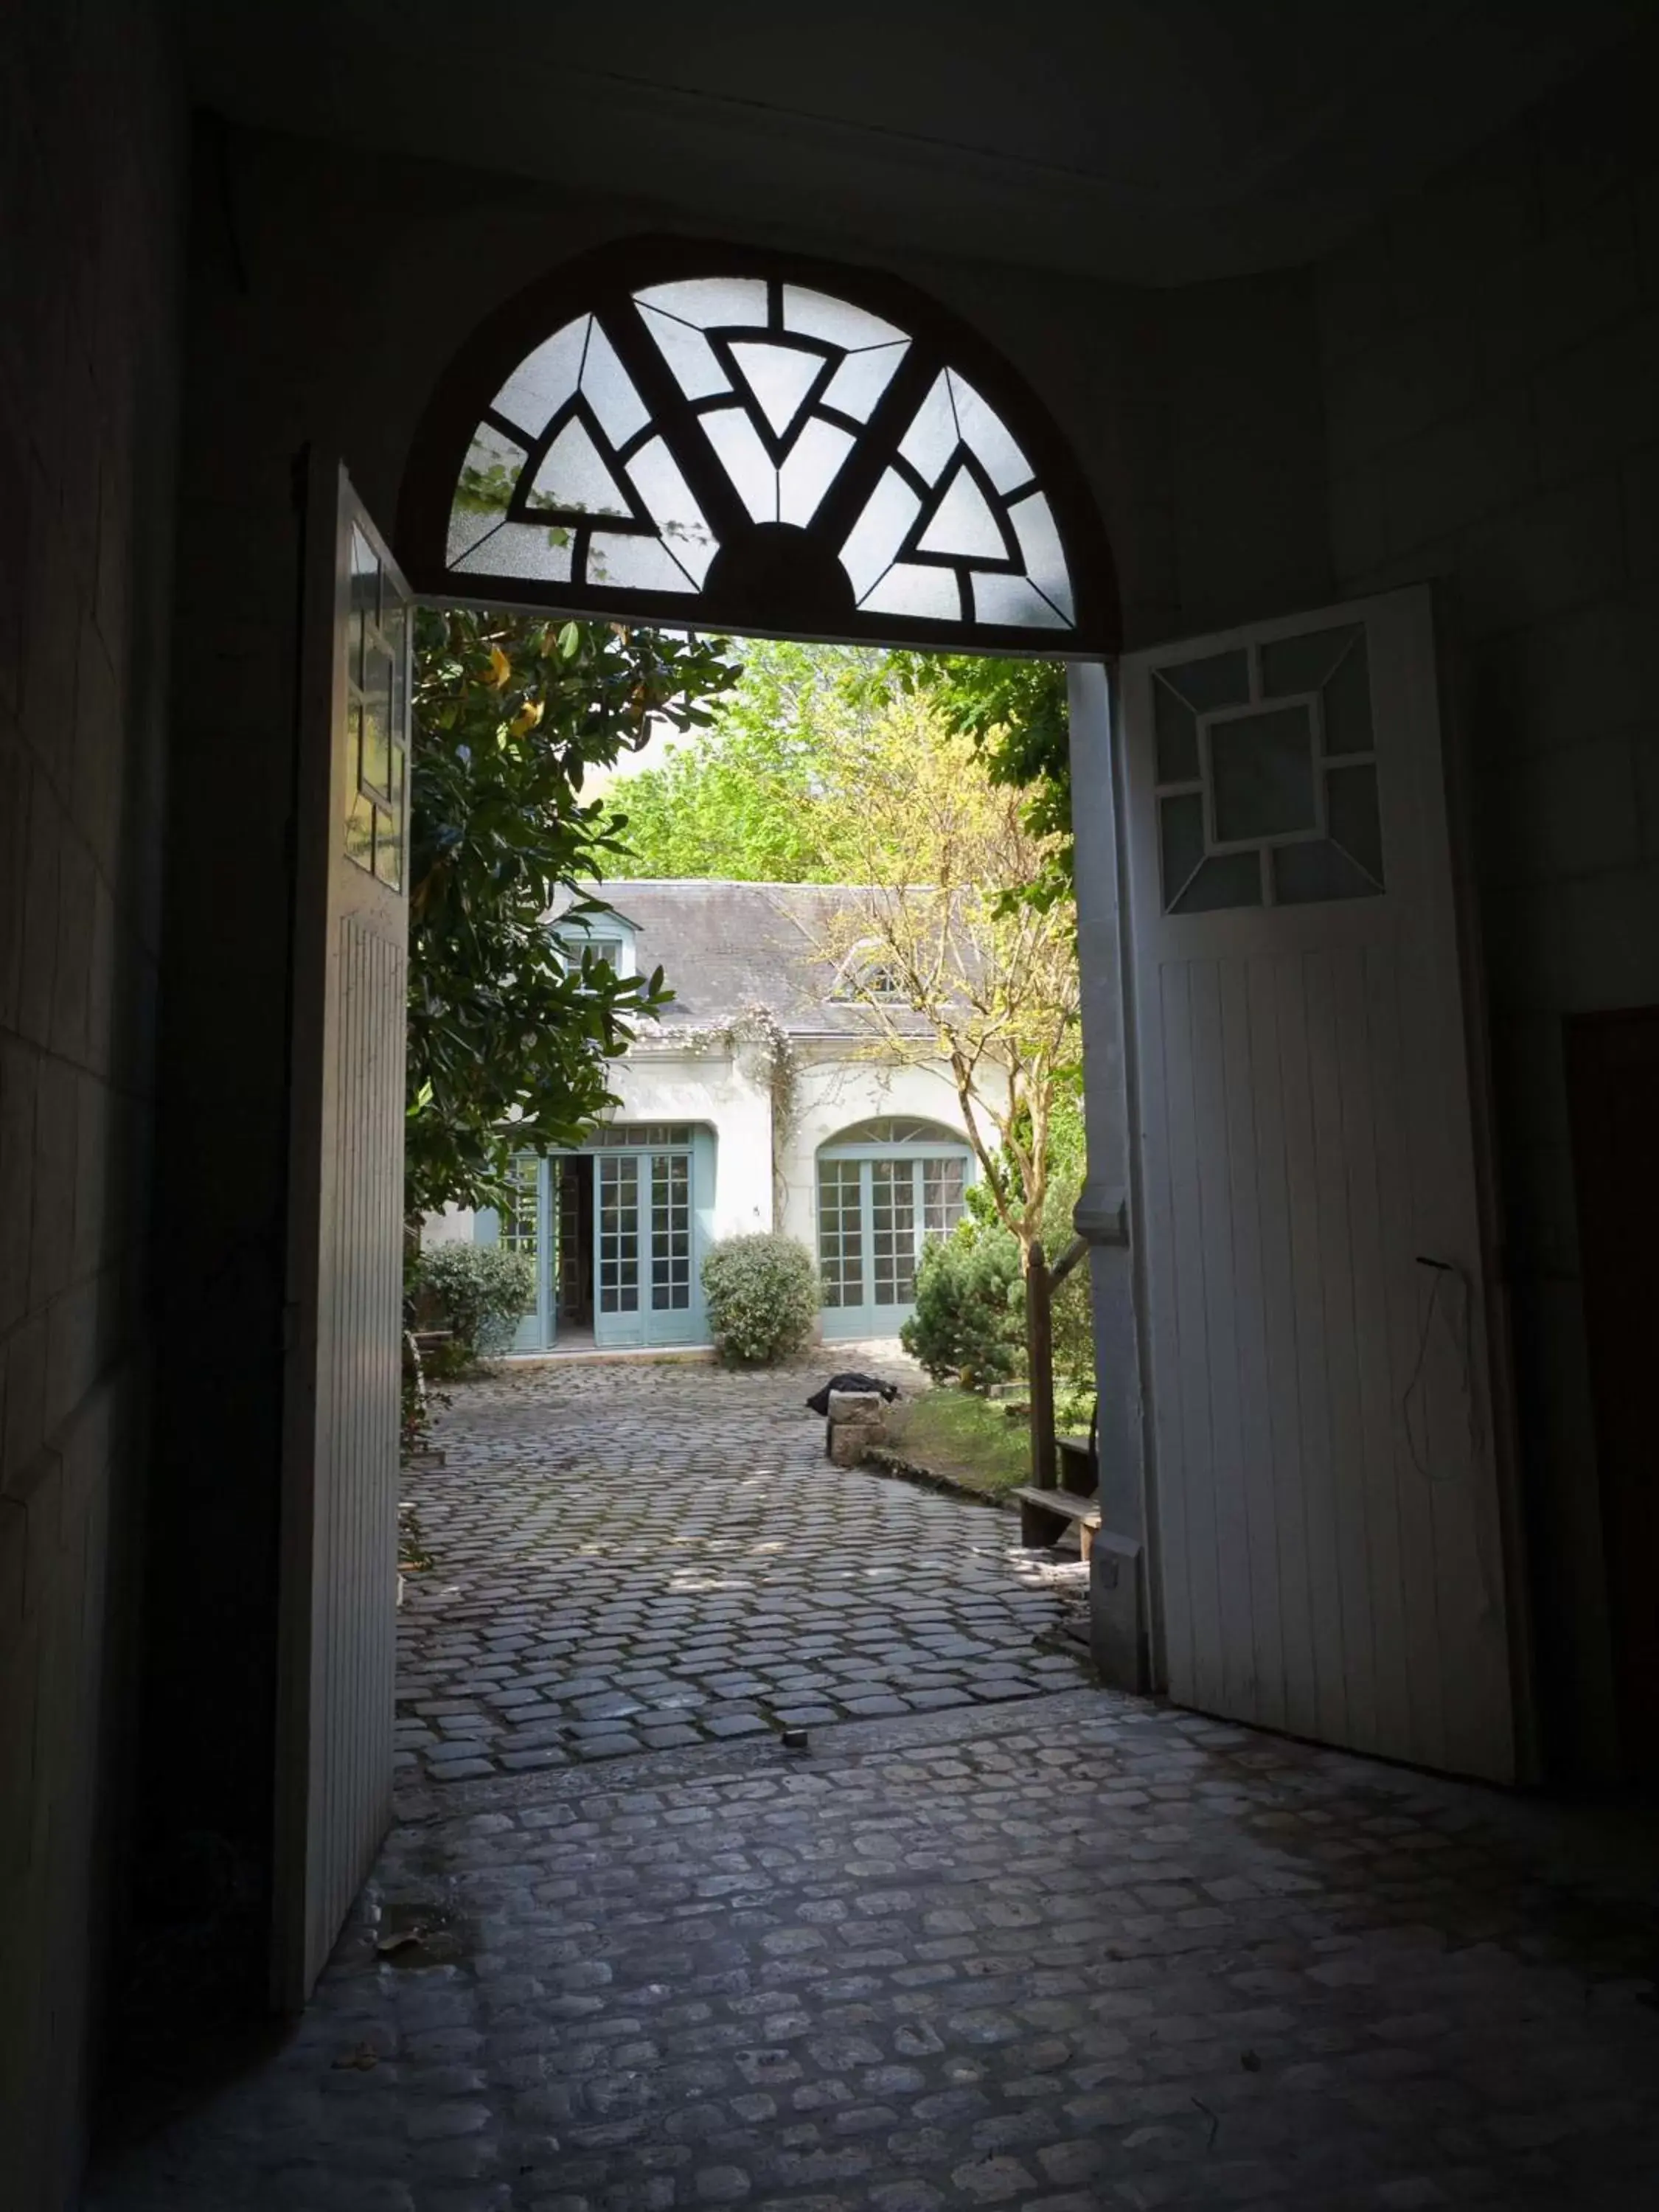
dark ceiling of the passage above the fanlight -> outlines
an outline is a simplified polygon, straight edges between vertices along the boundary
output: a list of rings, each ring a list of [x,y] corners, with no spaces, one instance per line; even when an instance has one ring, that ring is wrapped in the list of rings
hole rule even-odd
[[[1303,261],[1644,0],[181,0],[243,122],[1141,283]]]

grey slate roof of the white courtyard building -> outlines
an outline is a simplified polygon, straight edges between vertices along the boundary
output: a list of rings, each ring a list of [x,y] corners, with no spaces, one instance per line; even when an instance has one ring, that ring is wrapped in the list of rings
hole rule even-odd
[[[869,1037],[858,1006],[832,998],[834,964],[814,958],[827,922],[852,896],[830,883],[639,880],[606,883],[599,896],[633,922],[635,962],[648,975],[664,967],[672,1006],[661,1026],[708,1029],[768,1006],[796,1037]],[[896,1024],[927,1035],[918,1015]]]

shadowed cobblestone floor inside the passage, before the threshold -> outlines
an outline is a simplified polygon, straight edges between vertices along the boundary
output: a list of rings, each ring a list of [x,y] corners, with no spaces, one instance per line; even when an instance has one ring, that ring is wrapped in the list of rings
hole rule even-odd
[[[1655,2203],[1655,1918],[1582,1816],[1104,1690],[409,1809],[93,2212]]]

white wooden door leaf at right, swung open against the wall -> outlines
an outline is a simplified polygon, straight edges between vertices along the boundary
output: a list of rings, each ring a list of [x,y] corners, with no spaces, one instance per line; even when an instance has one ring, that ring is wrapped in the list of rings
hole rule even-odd
[[[1511,1778],[1502,1327],[1431,597],[1119,677],[1170,1694]]]

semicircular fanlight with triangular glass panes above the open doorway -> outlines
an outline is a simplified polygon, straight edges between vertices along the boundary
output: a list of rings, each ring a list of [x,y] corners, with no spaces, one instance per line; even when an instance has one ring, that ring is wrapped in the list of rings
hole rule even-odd
[[[1097,524],[1006,367],[902,288],[770,257],[615,250],[518,301],[434,403],[400,524],[451,599],[1115,646]]]

